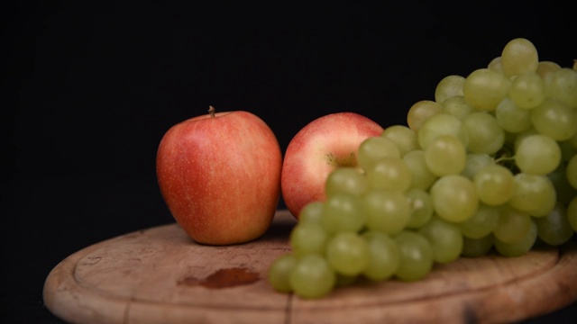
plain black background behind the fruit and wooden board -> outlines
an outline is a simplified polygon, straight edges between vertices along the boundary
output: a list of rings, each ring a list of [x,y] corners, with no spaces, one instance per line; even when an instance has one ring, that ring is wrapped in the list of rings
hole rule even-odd
[[[561,4],[385,3],[3,4],[0,322],[59,323],[41,297],[52,267],[173,221],[156,148],[209,105],[259,115],[284,151],[329,112],[406,124],[442,77],[486,67],[517,37],[543,60],[577,58],[574,12]]]

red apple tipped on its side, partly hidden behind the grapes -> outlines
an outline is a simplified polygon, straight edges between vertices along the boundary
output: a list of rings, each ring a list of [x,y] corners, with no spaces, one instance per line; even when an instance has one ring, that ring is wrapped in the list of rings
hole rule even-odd
[[[309,122],[290,140],[280,177],[287,209],[298,219],[309,202],[325,200],[325,181],[339,166],[358,166],[364,139],[380,136],[383,128],[355,112],[336,112]]]

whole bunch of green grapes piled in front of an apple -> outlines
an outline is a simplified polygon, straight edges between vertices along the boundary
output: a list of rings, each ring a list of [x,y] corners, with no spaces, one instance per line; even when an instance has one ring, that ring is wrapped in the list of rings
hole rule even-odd
[[[315,299],[364,278],[423,279],[459,257],[526,254],[577,232],[577,64],[508,41],[359,147],[300,212],[269,282]]]

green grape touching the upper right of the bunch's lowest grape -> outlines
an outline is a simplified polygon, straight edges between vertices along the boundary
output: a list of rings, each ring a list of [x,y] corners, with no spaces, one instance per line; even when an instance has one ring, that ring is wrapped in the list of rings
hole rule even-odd
[[[326,260],[337,274],[360,275],[370,256],[367,241],[350,231],[334,235],[326,244]]]

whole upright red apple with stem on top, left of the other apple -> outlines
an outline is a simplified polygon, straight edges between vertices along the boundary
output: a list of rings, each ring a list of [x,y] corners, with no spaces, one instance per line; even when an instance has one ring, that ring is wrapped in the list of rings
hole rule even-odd
[[[160,192],[198,243],[248,242],[269,229],[277,210],[279,141],[251,112],[209,112],[172,126],[160,140]]]

